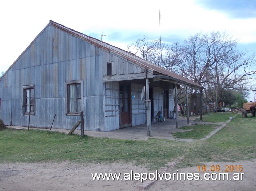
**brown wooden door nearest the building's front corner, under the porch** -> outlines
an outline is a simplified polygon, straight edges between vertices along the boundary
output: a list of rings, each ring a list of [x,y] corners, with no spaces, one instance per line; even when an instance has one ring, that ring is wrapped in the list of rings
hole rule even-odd
[[[120,128],[132,126],[131,124],[131,85],[120,84]]]

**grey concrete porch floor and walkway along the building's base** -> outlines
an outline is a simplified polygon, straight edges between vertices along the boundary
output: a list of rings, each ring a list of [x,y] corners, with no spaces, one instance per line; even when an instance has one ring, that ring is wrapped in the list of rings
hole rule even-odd
[[[194,119],[194,118],[193,118]],[[193,120],[189,120],[191,124],[209,124],[208,122],[194,122]],[[223,123],[217,123],[223,124]],[[188,126],[187,125],[187,118],[178,118],[178,127]],[[8,127],[8,126],[7,126]],[[28,127],[20,127],[20,126],[11,126],[14,129],[28,129]],[[47,130],[50,129],[39,129],[39,128],[31,128],[30,129],[37,129],[37,130]],[[59,131],[64,133],[69,133],[70,130],[65,129],[54,129],[52,128],[51,131]],[[177,141],[194,141],[193,139],[176,139],[174,138],[171,133],[174,132],[181,132],[180,128],[176,128],[176,120],[173,119],[166,119],[165,121],[159,122],[157,124],[152,123],[152,130],[151,130],[151,138],[158,138],[158,139],[172,139]],[[80,130],[75,130],[73,133],[81,134]],[[147,140],[149,137],[147,136],[147,127],[146,124],[143,125],[136,125],[132,127],[126,127],[123,129],[117,129],[107,132],[98,132],[98,131],[84,131],[85,135],[94,136],[94,137],[108,137],[108,138],[116,138],[116,139],[132,139],[132,140]]]

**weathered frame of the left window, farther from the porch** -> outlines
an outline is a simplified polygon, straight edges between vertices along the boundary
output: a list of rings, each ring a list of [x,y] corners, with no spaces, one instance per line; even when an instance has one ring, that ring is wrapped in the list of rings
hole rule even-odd
[[[31,103],[29,104],[26,104],[26,90],[27,89],[33,89],[34,90],[34,96],[33,96],[33,102],[34,104],[33,105],[33,112],[31,112]],[[35,110],[36,110],[36,107],[35,107],[35,85],[23,85],[22,86],[22,115],[35,115]],[[30,96],[31,97],[31,96]],[[29,102],[31,101],[31,99],[29,99]],[[29,112],[26,112],[26,106],[29,105]]]

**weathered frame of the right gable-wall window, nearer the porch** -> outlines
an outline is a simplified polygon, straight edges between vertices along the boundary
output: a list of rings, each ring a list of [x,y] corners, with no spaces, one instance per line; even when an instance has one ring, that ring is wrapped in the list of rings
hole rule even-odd
[[[75,111],[75,112],[70,112],[69,109],[69,86],[70,85],[76,85],[76,84],[80,84],[80,110],[83,111],[83,80],[74,80],[74,81],[65,81],[65,104],[66,104],[66,115],[80,115],[81,111]],[[76,92],[76,89],[74,90]],[[74,98],[75,99],[75,110],[77,110],[76,108],[76,104],[77,104],[77,97]]]

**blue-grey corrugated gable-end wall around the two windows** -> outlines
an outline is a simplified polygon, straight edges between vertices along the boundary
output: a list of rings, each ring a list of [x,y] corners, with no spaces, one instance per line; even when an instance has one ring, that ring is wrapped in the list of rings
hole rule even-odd
[[[35,115],[30,116],[30,126],[50,127],[56,112],[53,128],[71,129],[80,115],[66,115],[65,81],[83,80],[85,130],[104,131],[100,48],[49,25],[5,76],[0,81],[5,113],[0,115],[6,124],[12,112],[13,125],[28,125],[28,116],[22,115],[22,86],[35,85]]]

